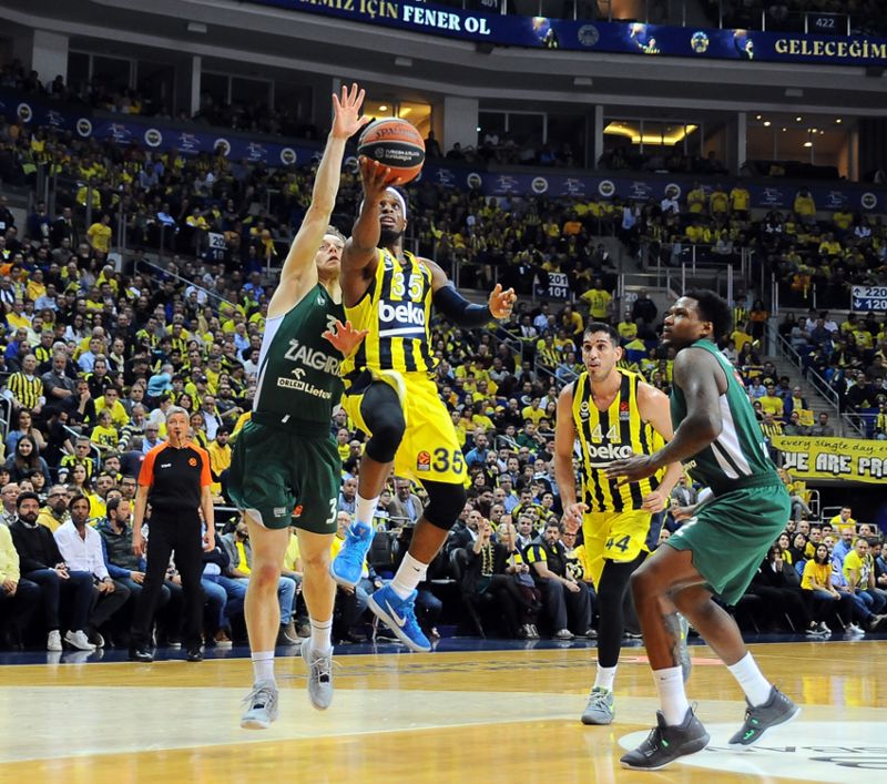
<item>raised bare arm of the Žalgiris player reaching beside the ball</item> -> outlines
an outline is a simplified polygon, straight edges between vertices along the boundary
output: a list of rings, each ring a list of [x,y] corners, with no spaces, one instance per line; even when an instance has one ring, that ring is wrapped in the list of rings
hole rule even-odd
[[[350,88],[343,86],[341,96],[333,95],[333,129],[327,138],[320,165],[317,167],[310,206],[284,262],[282,283],[286,278],[298,278],[306,272],[314,271],[315,254],[336,206],[345,144],[370,120],[360,115],[366,91],[359,89],[357,84],[351,84]]]

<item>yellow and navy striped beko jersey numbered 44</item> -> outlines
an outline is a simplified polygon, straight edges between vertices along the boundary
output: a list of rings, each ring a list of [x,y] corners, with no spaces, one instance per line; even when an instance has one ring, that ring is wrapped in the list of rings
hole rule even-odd
[[[583,373],[573,386],[573,422],[579,440],[579,466],[582,476],[582,500],[590,512],[621,512],[643,507],[644,496],[655,490],[665,470],[649,479],[619,487],[603,469],[613,460],[632,455],[652,455],[665,441],[638,410],[636,373],[616,369],[622,376],[619,394],[610,407],[601,411],[591,396],[591,381]]]

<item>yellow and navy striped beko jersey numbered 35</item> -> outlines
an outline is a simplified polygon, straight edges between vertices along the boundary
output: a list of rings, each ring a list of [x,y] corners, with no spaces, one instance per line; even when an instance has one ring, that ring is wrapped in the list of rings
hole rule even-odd
[[[407,251],[404,259],[379,250],[376,277],[366,294],[345,315],[355,329],[369,334],[343,366],[353,370],[427,373],[435,368],[431,355],[431,271]]]

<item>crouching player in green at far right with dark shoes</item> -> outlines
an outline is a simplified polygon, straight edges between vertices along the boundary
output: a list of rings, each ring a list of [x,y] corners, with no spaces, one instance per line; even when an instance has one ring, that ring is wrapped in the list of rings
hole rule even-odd
[[[730,745],[750,746],[798,714],[761,673],[733,618],[713,601],[714,595],[727,605],[738,601],[791,511],[742,379],[717,348],[732,319],[730,305],[710,291],[687,292],[672,306],[662,345],[677,349],[671,397],[674,438],[653,455],[615,460],[605,471],[621,482],[640,481],[680,460],[714,491],[632,576],[662,710],[649,737],[622,757],[624,767],[655,771],[708,743],[684,692],[679,611],[745,692],[745,721]]]

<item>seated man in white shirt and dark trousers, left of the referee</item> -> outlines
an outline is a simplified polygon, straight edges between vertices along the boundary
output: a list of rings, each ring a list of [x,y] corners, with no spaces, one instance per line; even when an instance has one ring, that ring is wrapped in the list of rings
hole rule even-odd
[[[102,553],[102,537],[86,525],[90,501],[85,496],[74,496],[68,506],[71,520],[60,526],[55,543],[71,571],[86,572],[93,578],[93,605],[90,613],[89,640],[96,648],[104,645],[99,630],[111,620],[130,598],[130,589],[111,579]]]

